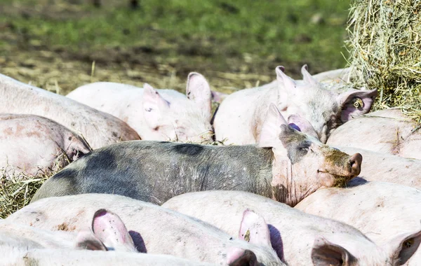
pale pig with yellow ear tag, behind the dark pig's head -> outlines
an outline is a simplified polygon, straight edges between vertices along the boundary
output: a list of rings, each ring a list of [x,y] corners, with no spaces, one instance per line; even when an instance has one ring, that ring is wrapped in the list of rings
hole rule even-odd
[[[297,116],[308,120],[317,137],[326,143],[331,130],[370,111],[377,95],[377,90],[350,89],[342,93],[327,90],[309,74],[306,65],[301,69],[302,83],[296,83],[283,71],[283,66],[277,66],[274,82],[240,90],[225,98],[213,121],[217,141],[255,144],[260,138],[269,104],[274,103],[288,123],[300,127]],[[301,130],[306,132],[305,128]]]

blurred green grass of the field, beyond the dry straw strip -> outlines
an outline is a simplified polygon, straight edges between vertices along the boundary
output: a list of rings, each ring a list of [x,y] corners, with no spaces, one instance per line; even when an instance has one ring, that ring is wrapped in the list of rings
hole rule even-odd
[[[136,10],[127,0],[104,1],[101,8],[86,2],[3,1],[0,9],[8,9],[0,11],[0,25],[11,26],[3,34],[17,36],[21,49],[89,55],[140,48],[162,63],[258,73],[278,64],[308,63],[313,72],[346,64],[349,1],[140,0]],[[322,20],[312,23],[316,14]]]

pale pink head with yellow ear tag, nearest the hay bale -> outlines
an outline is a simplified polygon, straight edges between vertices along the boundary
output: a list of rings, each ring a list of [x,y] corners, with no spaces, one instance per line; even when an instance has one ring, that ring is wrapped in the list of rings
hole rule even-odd
[[[286,76],[284,70],[283,66],[276,67],[279,110],[286,120],[291,115],[308,120],[323,143],[326,143],[330,132],[336,127],[368,113],[377,96],[377,89],[351,89],[345,92],[328,90],[310,75],[307,65],[302,66],[303,82],[300,83]]]

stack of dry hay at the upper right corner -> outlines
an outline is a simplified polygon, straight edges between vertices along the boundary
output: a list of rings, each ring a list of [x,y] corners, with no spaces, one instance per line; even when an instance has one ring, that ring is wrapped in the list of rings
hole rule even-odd
[[[379,90],[375,109],[421,119],[421,1],[353,0],[348,31],[355,85]]]

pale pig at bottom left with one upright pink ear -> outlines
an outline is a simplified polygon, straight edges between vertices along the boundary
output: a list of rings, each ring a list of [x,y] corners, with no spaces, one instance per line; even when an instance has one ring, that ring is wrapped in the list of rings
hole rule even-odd
[[[22,248],[68,248],[95,251],[137,252],[133,239],[120,217],[106,209],[99,209],[88,218],[90,224],[74,232],[62,227],[61,231],[34,228],[20,221],[0,221],[0,246]],[[89,228],[88,228],[89,227]]]

